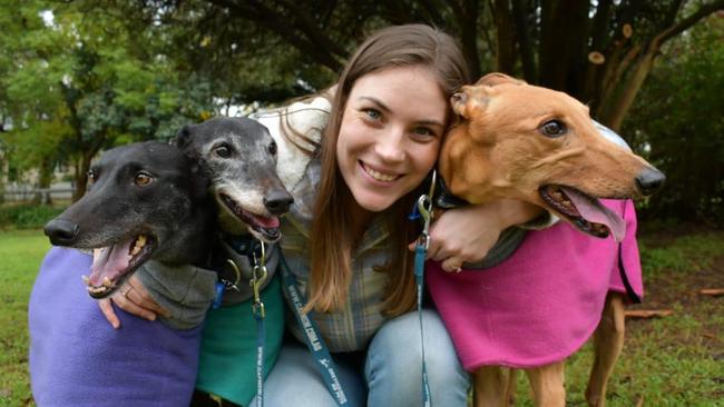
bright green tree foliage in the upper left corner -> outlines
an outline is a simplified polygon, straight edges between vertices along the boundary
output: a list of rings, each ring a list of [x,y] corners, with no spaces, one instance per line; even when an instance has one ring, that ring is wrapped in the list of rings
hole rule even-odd
[[[168,139],[213,111],[207,82],[179,75],[163,57],[157,27],[129,31],[117,16],[72,2],[0,1],[11,10],[0,20],[8,23],[0,33],[0,117],[10,125],[0,146],[14,173],[39,168],[49,182],[65,162],[79,169],[82,187],[99,150]]]

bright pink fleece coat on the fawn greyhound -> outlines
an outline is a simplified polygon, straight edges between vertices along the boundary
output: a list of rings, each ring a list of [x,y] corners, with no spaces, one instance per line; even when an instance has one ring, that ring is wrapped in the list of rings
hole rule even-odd
[[[640,298],[636,214],[630,201],[601,200],[622,215],[622,260]],[[609,290],[626,292],[612,237],[584,235],[566,222],[531,231],[502,264],[459,274],[427,262],[427,282],[462,365],[534,367],[579,349],[600,320]]]

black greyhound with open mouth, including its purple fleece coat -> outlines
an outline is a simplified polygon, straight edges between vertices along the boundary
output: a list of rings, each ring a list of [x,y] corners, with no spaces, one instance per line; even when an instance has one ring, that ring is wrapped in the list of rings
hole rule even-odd
[[[196,162],[175,146],[134,143],[106,151],[89,173],[86,195],[48,222],[56,246],[96,249],[95,258],[53,247],[30,296],[30,378],[39,406],[183,406],[190,400],[202,339],[200,320],[216,272],[179,272],[205,265],[214,236],[214,199]],[[183,329],[118,310],[114,329],[94,298],[109,296],[145,264],[173,272],[174,299],[199,304]],[[160,267],[160,266],[157,266]],[[87,287],[80,284],[82,274]],[[78,278],[78,279],[77,279]],[[160,279],[160,277],[159,277]],[[174,320],[188,319],[174,315]]]

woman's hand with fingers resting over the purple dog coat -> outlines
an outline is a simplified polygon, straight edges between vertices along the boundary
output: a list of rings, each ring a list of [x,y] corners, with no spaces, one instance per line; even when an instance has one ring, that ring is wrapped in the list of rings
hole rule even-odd
[[[106,316],[106,319],[108,319],[108,322],[118,329],[120,327],[120,319],[118,319],[111,302],[128,314],[148,320],[155,320],[158,315],[170,317],[170,314],[166,309],[154,301],[146,288],[144,288],[140,279],[136,276],[131,276],[110,297],[98,300],[98,306]]]

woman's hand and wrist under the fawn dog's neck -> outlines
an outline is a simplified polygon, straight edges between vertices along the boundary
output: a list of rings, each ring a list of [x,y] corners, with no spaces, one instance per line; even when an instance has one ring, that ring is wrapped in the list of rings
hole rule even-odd
[[[482,260],[502,230],[542,212],[540,207],[512,199],[448,210],[430,227],[428,258],[441,261],[446,271],[460,271],[463,262]],[[409,248],[414,250],[414,242]]]

